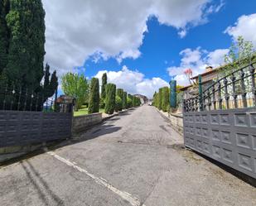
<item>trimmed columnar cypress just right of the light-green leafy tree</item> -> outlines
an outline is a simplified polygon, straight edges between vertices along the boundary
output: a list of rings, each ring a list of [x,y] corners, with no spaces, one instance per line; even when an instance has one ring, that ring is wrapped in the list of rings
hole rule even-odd
[[[99,113],[99,79],[93,78],[89,88],[88,113]]]

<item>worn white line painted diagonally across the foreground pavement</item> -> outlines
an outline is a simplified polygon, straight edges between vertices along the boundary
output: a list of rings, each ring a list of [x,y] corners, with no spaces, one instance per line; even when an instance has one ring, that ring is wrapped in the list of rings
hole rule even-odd
[[[61,162],[65,163],[66,165],[69,165],[69,166],[73,167],[75,170],[79,170],[80,172],[85,173],[91,179],[93,179],[97,184],[103,185],[104,187],[110,189],[115,194],[118,194],[118,196],[120,196],[122,199],[127,200],[133,206],[146,206],[145,204],[141,204],[139,199],[133,197],[132,194],[128,194],[127,192],[123,192],[123,191],[115,188],[113,185],[109,184],[107,180],[104,180],[101,177],[96,177],[95,175],[90,174],[87,170],[81,168],[75,162],[73,163],[70,160],[66,160],[63,157],[56,155],[56,153],[53,152],[53,151],[49,151],[49,152],[47,152],[47,154],[49,154],[50,156],[54,156],[57,160],[60,160]]]

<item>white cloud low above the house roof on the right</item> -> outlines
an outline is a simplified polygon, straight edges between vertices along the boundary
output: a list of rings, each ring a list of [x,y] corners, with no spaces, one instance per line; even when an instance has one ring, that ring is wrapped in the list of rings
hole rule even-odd
[[[213,67],[222,65],[224,63],[224,55],[227,54],[229,50],[219,49],[214,51],[202,50],[200,47],[197,47],[196,50],[191,50],[187,48],[186,50],[181,50],[180,55],[181,65],[171,66],[167,68],[170,76],[175,76],[177,84],[186,86],[189,83],[189,80],[186,78],[186,75],[183,74],[185,69],[192,69],[193,75],[203,73],[207,65]]]

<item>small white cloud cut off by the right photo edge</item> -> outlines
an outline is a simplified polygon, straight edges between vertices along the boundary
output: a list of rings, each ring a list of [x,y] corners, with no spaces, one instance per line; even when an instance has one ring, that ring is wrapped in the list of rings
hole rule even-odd
[[[239,17],[238,21],[235,22],[234,26],[229,26],[225,33],[229,36],[233,36],[237,39],[238,36],[243,36],[244,40],[252,41],[256,46],[256,13],[251,15],[243,15]]]

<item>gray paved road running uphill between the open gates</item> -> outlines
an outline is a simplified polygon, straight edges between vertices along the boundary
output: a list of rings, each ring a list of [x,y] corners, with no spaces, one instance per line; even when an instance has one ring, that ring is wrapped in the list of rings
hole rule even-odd
[[[81,134],[79,143],[0,169],[5,205],[256,205],[256,189],[182,148],[149,106]]]

